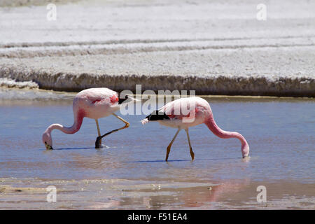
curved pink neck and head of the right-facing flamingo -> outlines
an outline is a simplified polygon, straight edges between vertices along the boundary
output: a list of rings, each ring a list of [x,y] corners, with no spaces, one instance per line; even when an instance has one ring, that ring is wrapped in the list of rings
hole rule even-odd
[[[239,141],[241,141],[241,153],[242,155],[248,155],[249,153],[249,146],[248,143],[246,141],[246,139],[239,134],[238,132],[226,132],[224,130],[221,130],[220,127],[218,127],[218,125],[216,125],[216,122],[214,121],[214,117],[209,116],[209,118],[207,118],[205,124],[209,127],[209,130],[211,130],[211,132],[213,132],[217,137],[221,138],[221,139],[230,139],[230,138],[236,138],[239,139]]]

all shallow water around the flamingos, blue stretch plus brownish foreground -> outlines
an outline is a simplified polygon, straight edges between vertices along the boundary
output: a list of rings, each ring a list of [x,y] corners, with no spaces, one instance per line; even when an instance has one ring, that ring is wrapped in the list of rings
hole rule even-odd
[[[97,128],[85,118],[76,134],[54,130],[55,150],[46,151],[45,128],[73,123],[71,96],[0,91],[0,209],[315,208],[313,99],[207,97],[216,123],[244,135],[250,158],[241,158],[237,139],[219,139],[200,125],[190,128],[195,160],[182,131],[165,162],[176,130],[143,126],[145,115],[123,116],[130,128],[106,137],[108,148],[94,148]],[[123,123],[111,116],[99,125],[105,133]],[[49,185],[61,189],[59,204],[45,202],[43,190],[24,190]],[[255,198],[260,185],[269,195],[265,205]]]

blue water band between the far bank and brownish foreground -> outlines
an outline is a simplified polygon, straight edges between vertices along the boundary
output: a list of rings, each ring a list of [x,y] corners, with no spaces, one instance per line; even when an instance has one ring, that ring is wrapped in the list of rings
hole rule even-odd
[[[137,179],[222,181],[297,181],[314,183],[315,102],[310,99],[207,98],[216,123],[244,135],[251,149],[241,159],[237,139],[219,139],[205,125],[190,128],[192,162],[186,133],[166,147],[176,130],[158,123],[141,125],[142,116],[122,116],[130,127],[95,149],[97,128],[85,118],[76,134],[52,132],[55,150],[46,151],[41,135],[48,125],[71,126],[71,101],[0,102],[0,177],[40,179]],[[118,115],[120,113],[118,112]],[[114,116],[99,120],[101,132],[123,123]]]

